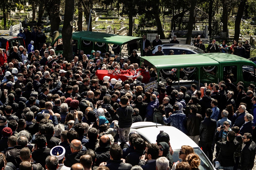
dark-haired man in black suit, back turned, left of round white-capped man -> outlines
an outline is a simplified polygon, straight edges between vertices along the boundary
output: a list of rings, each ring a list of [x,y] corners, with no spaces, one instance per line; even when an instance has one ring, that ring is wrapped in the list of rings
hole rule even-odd
[[[31,153],[31,162],[35,161],[45,167],[45,160],[50,156],[50,148],[47,148],[45,135],[39,134],[35,137],[36,150]]]

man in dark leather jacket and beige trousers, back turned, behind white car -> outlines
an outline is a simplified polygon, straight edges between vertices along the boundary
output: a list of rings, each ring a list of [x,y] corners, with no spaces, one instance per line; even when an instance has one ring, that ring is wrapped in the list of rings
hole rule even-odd
[[[199,140],[199,125],[202,121],[202,115],[197,114],[197,107],[192,104],[189,107],[190,114],[187,116],[187,135],[198,145]]]

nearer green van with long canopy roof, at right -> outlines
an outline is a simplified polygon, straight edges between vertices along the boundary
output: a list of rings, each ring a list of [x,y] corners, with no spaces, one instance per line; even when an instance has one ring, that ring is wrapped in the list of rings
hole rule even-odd
[[[173,56],[143,56],[142,62],[151,63],[158,71],[163,74],[171,74],[175,71],[177,76],[176,85],[190,87],[191,84],[197,84],[198,87],[204,86],[204,83],[219,83],[221,80],[230,78],[233,84],[239,81],[244,82],[245,88],[249,84],[256,85],[256,65],[250,60],[225,53],[202,53],[189,55]],[[188,69],[189,68],[189,69]],[[180,70],[186,71],[187,79],[180,80]],[[167,75],[168,77],[168,75]],[[159,82],[159,76],[158,76]],[[178,84],[177,84],[178,83]]]

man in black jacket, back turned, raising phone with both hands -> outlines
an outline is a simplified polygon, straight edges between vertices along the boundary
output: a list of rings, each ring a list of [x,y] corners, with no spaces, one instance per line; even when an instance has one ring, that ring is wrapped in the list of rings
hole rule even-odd
[[[225,127],[227,130],[227,127]],[[217,128],[217,133],[215,134],[216,145],[221,148],[219,155],[217,157],[217,161],[219,161],[220,166],[219,169],[233,169],[235,165],[234,161],[234,152],[238,147],[238,141],[235,140],[235,132],[229,131],[227,133],[227,141],[221,142],[218,141],[217,138],[219,136],[219,132],[221,131],[221,127]]]

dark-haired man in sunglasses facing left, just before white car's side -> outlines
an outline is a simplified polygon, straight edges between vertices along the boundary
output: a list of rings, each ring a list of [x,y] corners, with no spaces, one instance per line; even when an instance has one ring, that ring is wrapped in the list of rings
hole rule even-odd
[[[156,159],[159,155],[159,147],[157,144],[148,144],[144,155],[141,156],[139,160],[139,166],[142,167],[143,170],[155,170],[156,167]],[[147,162],[145,161],[147,159]]]

